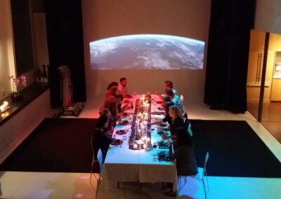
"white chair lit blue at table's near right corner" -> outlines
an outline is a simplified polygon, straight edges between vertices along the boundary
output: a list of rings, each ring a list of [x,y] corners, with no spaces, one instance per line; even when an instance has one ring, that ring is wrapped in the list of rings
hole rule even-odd
[[[181,191],[181,188],[183,188],[183,186],[185,186],[186,182],[187,182],[187,178],[188,177],[192,177],[195,179],[199,179],[202,181],[203,186],[204,186],[204,194],[205,194],[205,198],[207,199],[207,192],[206,192],[206,188],[205,188],[205,183],[204,183],[204,178],[206,178],[207,181],[207,187],[209,191],[209,182],[208,182],[208,174],[207,174],[207,169],[206,169],[206,165],[207,165],[207,161],[209,159],[209,152],[206,153],[205,156],[205,160],[204,160],[204,167],[198,167],[198,172],[195,175],[189,175],[189,176],[179,176],[178,177],[178,193]],[[181,178],[183,177],[184,180],[184,184],[181,186]]]

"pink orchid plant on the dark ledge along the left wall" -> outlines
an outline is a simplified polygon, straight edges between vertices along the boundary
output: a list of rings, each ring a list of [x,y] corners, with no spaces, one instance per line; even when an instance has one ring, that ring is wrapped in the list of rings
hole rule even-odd
[[[22,99],[23,95],[20,91],[22,89],[22,85],[27,85],[27,78],[24,75],[21,75],[19,78],[12,75],[9,76],[8,79],[13,81],[13,91],[11,91],[11,98]]]

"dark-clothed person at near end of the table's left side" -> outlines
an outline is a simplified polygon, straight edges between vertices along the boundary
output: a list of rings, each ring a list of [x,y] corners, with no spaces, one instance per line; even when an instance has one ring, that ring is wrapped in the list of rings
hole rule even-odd
[[[92,138],[92,146],[93,146],[93,153],[95,159],[97,160],[98,150],[100,149],[103,153],[103,162],[105,160],[105,156],[108,150],[108,147],[111,143],[111,137],[107,134],[105,129],[108,127],[108,119],[107,116],[100,116],[98,118],[98,122],[96,123],[96,129],[93,133]]]

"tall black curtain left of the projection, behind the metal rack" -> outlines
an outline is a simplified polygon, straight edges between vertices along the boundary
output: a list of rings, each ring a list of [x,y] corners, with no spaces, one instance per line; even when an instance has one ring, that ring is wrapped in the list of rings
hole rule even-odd
[[[81,0],[46,0],[46,26],[50,60],[50,90],[53,108],[62,104],[58,67],[64,64],[72,72],[72,99],[86,101],[84,43]]]

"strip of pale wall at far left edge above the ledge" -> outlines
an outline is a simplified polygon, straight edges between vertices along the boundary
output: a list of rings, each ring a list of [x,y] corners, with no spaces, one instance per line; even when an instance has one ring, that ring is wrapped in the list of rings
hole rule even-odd
[[[13,84],[8,76],[15,75],[10,8],[9,0],[0,1],[0,100],[12,91]]]

